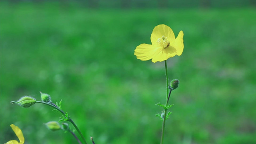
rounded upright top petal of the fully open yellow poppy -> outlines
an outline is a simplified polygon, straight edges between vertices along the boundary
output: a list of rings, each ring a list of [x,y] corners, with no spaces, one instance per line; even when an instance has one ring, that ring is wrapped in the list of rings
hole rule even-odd
[[[169,41],[175,39],[174,33],[169,26],[165,24],[159,24],[153,29],[153,32],[151,34],[150,39],[152,45],[157,45],[158,38],[161,38],[162,36],[166,36]]]

